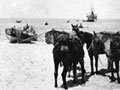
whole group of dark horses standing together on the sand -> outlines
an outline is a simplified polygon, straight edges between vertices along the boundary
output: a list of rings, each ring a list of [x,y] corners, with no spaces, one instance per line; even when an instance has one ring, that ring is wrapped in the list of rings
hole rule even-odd
[[[65,31],[57,31],[52,29],[45,33],[45,40],[47,44],[53,44],[53,59],[54,59],[54,78],[55,87],[57,85],[58,67],[63,65],[62,79],[64,88],[67,89],[66,74],[67,71],[73,68],[73,83],[76,83],[76,65],[80,63],[82,70],[82,83],[85,83],[85,67],[84,67],[84,49],[83,45],[86,43],[88,55],[90,57],[91,75],[99,74],[98,71],[98,56],[99,54],[106,54],[108,59],[108,70],[111,71],[114,77],[114,71],[117,73],[117,81],[119,79],[119,59],[120,59],[120,34],[119,32],[99,32],[89,33],[80,31],[78,25],[72,26],[72,34]],[[74,34],[73,34],[74,33]],[[93,65],[93,57],[95,57],[95,70]],[[115,62],[116,69],[113,69],[113,62]],[[112,81],[115,81],[112,79]]]

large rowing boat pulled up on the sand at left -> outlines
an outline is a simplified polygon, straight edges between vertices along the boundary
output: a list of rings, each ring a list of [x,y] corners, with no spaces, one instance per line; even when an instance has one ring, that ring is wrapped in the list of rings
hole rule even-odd
[[[12,28],[6,28],[5,33],[10,43],[32,43],[32,41],[37,41],[36,33],[25,33],[23,30],[18,30]]]

